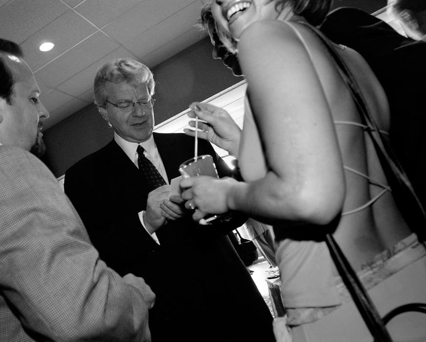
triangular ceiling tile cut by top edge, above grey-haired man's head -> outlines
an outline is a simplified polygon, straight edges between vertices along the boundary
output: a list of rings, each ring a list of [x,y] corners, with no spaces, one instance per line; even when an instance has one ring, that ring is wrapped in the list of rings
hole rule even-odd
[[[90,0],[83,2],[75,10],[98,27],[103,27],[142,1]]]

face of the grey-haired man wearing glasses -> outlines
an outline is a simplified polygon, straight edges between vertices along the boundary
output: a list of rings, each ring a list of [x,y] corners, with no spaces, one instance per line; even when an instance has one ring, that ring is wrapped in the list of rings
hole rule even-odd
[[[106,100],[117,104],[123,101],[147,101],[151,97],[145,83],[131,85],[127,82],[106,82]],[[103,115],[114,128],[114,131],[123,139],[139,143],[146,141],[154,128],[154,111],[151,108],[142,108],[139,104],[125,112],[110,103],[106,103]]]

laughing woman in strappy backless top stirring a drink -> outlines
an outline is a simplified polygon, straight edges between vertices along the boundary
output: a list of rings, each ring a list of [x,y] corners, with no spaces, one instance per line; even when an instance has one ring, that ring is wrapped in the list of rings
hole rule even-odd
[[[348,314],[346,305],[339,307],[324,235],[334,233],[360,277],[374,274],[376,280],[380,267],[392,262],[384,257],[387,252],[416,237],[389,192],[350,90],[318,38],[314,26],[323,20],[330,1],[216,0],[210,6],[214,26],[219,36],[229,38],[247,80],[241,138],[233,140],[216,130],[216,119],[219,127],[224,122],[217,107],[193,103],[190,108],[206,122],[199,126],[206,137],[220,137],[238,151],[244,181],[183,179],[185,205],[197,208],[194,220],[231,210],[274,226],[287,324],[295,334],[312,341],[342,341],[344,327],[347,339],[367,338],[362,322],[352,324],[358,312]],[[334,47],[379,127],[387,130],[387,100],[368,64],[354,50]],[[367,270],[365,265],[378,256],[384,257],[380,267]],[[424,277],[424,265],[422,272]],[[405,281],[401,277],[390,280],[394,290]],[[368,286],[378,284],[380,280]],[[389,291],[383,296],[386,304],[397,302]],[[280,332],[287,330],[280,325],[283,321],[278,323]],[[317,333],[321,337],[315,338]]]

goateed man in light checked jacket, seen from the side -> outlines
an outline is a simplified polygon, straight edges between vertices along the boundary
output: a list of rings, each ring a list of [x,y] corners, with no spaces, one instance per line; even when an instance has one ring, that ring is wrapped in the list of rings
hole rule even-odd
[[[154,294],[106,267],[43,154],[49,113],[0,39],[0,341],[150,341]]]

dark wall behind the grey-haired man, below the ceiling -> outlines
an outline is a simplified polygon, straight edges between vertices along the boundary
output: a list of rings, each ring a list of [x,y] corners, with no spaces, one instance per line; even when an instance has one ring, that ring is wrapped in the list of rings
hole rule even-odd
[[[184,111],[193,101],[205,100],[242,80],[221,60],[214,60],[212,51],[210,39],[205,38],[152,68],[155,124]],[[75,162],[106,145],[112,136],[112,129],[96,107],[87,106],[44,132],[47,149],[43,161],[59,177]]]

